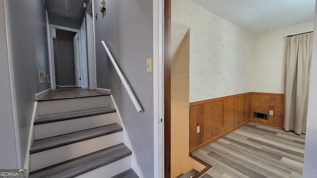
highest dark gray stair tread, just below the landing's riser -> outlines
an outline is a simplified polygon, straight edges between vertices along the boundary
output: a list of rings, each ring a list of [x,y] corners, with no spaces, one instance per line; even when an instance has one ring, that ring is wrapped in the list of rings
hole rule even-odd
[[[116,112],[116,110],[112,107],[103,107],[103,108],[97,108],[97,109],[87,109],[87,110],[81,110],[81,111],[50,114],[50,115],[36,117],[34,120],[34,125],[47,124],[47,123],[65,121],[70,119],[78,119],[83,117],[96,116],[96,115],[108,114],[108,113],[114,113],[114,112]]]

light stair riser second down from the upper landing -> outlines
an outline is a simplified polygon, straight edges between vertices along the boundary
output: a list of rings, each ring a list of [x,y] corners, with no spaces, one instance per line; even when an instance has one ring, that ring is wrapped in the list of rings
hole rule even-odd
[[[113,124],[115,122],[115,113],[108,113],[60,122],[35,125],[34,139],[37,140],[61,134],[73,133],[100,126],[106,126],[108,124]]]

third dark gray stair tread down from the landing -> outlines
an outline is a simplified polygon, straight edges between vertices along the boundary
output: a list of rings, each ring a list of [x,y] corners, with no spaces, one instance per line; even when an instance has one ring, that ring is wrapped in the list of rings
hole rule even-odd
[[[123,143],[30,173],[29,178],[73,178],[130,156]]]

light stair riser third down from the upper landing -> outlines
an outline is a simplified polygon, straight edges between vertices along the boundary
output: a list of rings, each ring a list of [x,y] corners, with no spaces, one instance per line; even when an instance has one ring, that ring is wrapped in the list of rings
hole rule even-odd
[[[54,164],[74,159],[110,146],[122,143],[122,132],[60,146],[30,155],[30,171],[36,171]],[[131,161],[130,161],[131,162]]]

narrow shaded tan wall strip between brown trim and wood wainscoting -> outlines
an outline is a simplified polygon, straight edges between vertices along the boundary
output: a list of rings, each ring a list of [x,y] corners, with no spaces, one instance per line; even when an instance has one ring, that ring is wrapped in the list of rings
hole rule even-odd
[[[189,27],[172,22],[171,178],[205,166],[189,157]]]

